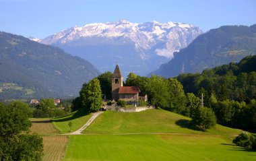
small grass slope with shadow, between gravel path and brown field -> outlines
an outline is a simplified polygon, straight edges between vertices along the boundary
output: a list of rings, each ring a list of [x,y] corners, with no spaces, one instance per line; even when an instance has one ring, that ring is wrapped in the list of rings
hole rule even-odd
[[[52,121],[56,129],[58,129],[61,133],[69,133],[82,127],[90,119],[90,117],[92,117],[91,114],[88,114],[85,110],[80,109],[70,113],[69,115],[53,118]],[[69,122],[72,123],[71,131],[68,125]]]

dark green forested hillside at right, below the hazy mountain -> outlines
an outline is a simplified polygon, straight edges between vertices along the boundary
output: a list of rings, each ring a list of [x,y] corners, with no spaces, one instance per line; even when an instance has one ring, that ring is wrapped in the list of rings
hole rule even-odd
[[[214,110],[218,123],[249,131],[256,129],[256,55],[239,63],[177,77],[185,93],[198,97]]]

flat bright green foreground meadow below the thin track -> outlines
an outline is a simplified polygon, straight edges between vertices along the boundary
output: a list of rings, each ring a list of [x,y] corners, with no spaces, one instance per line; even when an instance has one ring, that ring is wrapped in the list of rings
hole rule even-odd
[[[217,135],[71,135],[63,160],[255,160]]]

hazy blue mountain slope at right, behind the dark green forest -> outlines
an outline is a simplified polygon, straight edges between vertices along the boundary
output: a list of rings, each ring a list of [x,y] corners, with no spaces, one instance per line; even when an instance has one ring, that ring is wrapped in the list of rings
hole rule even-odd
[[[180,73],[198,73],[247,55],[256,55],[256,24],[253,26],[222,26],[201,34],[185,49],[174,53],[174,59],[152,72],[164,77]]]

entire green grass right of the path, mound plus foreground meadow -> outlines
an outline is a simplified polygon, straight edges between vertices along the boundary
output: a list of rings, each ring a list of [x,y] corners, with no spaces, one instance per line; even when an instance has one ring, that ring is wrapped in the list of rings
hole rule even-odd
[[[255,160],[256,152],[232,144],[241,130],[197,131],[188,121],[166,110],[106,111],[86,135],[69,136],[64,160]]]

